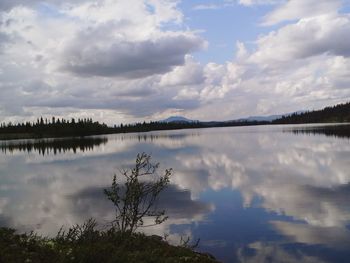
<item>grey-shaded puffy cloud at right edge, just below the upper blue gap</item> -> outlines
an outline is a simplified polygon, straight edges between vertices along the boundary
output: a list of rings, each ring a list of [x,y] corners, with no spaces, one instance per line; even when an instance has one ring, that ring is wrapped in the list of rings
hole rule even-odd
[[[257,40],[258,50],[251,60],[273,64],[320,54],[348,57],[350,17],[323,15],[301,19]]]

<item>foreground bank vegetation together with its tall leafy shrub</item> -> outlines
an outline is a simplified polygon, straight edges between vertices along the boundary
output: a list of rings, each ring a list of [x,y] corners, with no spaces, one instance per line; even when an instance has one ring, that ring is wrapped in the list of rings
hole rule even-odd
[[[0,262],[217,262],[209,254],[193,251],[188,239],[173,246],[162,237],[136,233],[137,228],[145,226],[145,218],[153,218],[154,224],[167,218],[165,211],[157,210],[156,203],[169,183],[171,169],[157,176],[159,164],[150,160],[145,153],[137,155],[135,168],[122,171],[118,177],[126,182],[114,176],[112,186],[105,190],[116,208],[116,218],[107,230],[98,229],[93,219],[67,231],[62,228],[52,238],[0,228]]]

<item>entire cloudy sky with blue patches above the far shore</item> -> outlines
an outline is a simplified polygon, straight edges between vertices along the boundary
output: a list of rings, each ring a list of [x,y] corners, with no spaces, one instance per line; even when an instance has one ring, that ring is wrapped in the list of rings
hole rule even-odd
[[[320,109],[349,43],[350,0],[0,0],[0,121]]]

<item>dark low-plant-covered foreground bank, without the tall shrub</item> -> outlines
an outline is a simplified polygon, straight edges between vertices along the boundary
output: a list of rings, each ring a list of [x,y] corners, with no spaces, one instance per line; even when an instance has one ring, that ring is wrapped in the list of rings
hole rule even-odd
[[[0,262],[218,262],[188,246],[173,246],[159,236],[131,234],[113,229],[96,230],[94,225],[60,231],[54,238],[34,233],[17,234],[0,228]]]

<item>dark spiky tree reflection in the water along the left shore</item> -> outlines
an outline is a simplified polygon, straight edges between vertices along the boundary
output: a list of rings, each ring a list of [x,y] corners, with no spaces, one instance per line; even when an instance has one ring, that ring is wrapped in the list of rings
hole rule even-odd
[[[0,143],[0,149],[3,153],[19,152],[38,152],[41,155],[58,154],[78,150],[81,152],[92,151],[94,147],[106,144],[106,137],[100,138],[70,138],[70,139],[39,139],[28,141],[6,141]]]

